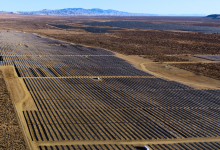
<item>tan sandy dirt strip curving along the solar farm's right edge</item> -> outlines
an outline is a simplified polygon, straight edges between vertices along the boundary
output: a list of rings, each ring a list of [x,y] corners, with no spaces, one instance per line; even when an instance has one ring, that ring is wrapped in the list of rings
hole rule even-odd
[[[170,66],[170,65],[167,66],[167,63],[153,62],[153,60],[143,58],[138,55],[123,55],[123,54],[116,53],[116,56],[127,60],[128,62],[132,63],[135,67],[143,71],[154,74],[156,77],[166,78],[172,81],[178,81],[178,82],[193,86],[198,89],[219,89],[220,88],[219,80],[206,77],[206,76],[202,76],[202,75],[196,75],[193,72],[179,69],[174,66]],[[205,60],[204,62],[213,63],[213,61],[205,61]],[[171,63],[169,62],[169,64]]]

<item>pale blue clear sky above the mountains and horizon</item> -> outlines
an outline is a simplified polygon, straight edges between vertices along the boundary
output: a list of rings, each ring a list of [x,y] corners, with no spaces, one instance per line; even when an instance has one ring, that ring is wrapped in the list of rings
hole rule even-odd
[[[101,8],[151,14],[220,14],[220,0],[2,0],[2,11]]]

